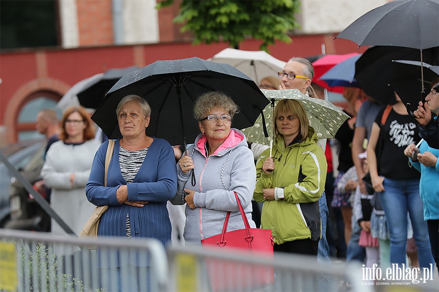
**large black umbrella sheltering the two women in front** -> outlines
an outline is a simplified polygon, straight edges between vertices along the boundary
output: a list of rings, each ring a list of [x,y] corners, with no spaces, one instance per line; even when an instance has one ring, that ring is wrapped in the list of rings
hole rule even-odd
[[[92,116],[112,139],[121,137],[116,107],[128,94],[137,94],[151,106],[151,120],[146,133],[166,139],[171,145],[194,141],[200,133],[193,117],[194,102],[205,92],[222,91],[238,105],[235,128],[253,126],[269,103],[258,85],[238,69],[197,57],[156,61],[128,73],[108,91]]]

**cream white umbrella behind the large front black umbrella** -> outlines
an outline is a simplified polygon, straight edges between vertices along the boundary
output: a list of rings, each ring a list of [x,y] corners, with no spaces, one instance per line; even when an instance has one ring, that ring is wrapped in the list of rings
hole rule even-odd
[[[285,62],[265,51],[243,51],[232,48],[222,50],[209,61],[232,65],[256,83],[266,76],[278,76]]]

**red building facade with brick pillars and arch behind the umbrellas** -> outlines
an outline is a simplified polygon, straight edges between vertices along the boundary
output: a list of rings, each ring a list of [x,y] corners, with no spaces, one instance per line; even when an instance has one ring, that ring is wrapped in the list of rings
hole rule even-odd
[[[156,60],[198,56],[210,58],[228,47],[226,43],[192,45],[190,34],[181,34],[180,26],[172,23],[178,14],[178,2],[159,11],[160,43],[134,46],[113,45],[111,0],[77,0],[80,48],[20,50],[0,54],[0,144],[17,141],[17,117],[20,110],[38,92],[49,92],[60,98],[80,80],[111,68],[132,65],[146,66]],[[277,42],[269,46],[270,54],[280,60],[293,56],[362,53],[357,45],[336,34],[294,36],[289,44]],[[257,51],[260,41],[246,40],[240,49]],[[52,94],[52,95],[51,95]]]

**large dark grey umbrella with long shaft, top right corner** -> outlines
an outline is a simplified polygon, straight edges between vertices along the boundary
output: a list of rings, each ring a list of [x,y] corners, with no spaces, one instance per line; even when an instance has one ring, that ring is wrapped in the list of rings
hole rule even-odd
[[[438,19],[439,0],[394,0],[359,17],[337,37],[352,40],[359,46],[419,49],[422,63],[422,50],[439,46]]]

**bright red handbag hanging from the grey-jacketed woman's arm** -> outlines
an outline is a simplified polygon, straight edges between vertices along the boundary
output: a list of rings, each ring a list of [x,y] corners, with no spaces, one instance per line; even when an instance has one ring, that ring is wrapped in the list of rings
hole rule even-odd
[[[250,228],[236,192],[235,198],[245,229],[226,232],[230,218],[230,212],[227,212],[221,234],[201,239],[201,244],[221,250],[239,249],[249,254],[273,258],[274,240],[271,230]],[[213,291],[244,291],[274,282],[273,267],[242,264],[218,258],[206,258],[206,266]]]

